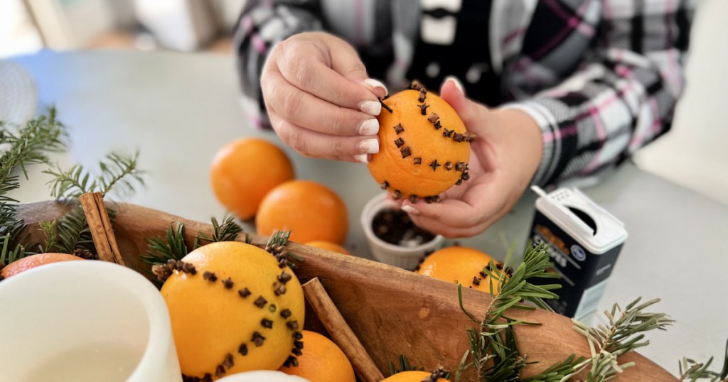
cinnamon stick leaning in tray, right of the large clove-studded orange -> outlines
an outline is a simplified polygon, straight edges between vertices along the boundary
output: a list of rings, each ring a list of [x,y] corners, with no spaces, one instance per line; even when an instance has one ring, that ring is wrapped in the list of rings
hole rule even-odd
[[[354,371],[363,382],[379,382],[384,375],[374,365],[374,361],[359,342],[357,336],[352,332],[341,312],[336,308],[331,298],[326,293],[318,277],[314,277],[303,285],[306,301],[316,312],[317,317],[331,335],[331,339],[344,351],[349,361],[352,362]]]

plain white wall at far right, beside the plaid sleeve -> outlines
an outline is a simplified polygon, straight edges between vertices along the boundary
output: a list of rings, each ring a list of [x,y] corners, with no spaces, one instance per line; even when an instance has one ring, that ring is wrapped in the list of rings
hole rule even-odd
[[[699,0],[673,130],[638,166],[728,204],[728,1]]]

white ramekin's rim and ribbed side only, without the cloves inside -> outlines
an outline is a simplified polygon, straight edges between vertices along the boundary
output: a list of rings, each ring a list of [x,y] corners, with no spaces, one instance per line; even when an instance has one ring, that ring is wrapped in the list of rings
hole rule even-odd
[[[399,208],[399,204],[389,200],[387,193],[383,193],[374,196],[362,210],[361,223],[369,244],[369,250],[374,255],[374,258],[385,264],[412,270],[419,264],[419,260],[427,252],[438,250],[442,246],[444,238],[440,235],[435,236],[435,239],[429,242],[424,242],[414,247],[403,247],[379,239],[374,234],[371,223],[376,213],[386,208],[397,209]]]

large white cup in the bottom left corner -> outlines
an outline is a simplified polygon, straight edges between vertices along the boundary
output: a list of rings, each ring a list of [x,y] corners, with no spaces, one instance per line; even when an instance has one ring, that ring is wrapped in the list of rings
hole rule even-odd
[[[39,266],[0,282],[3,381],[181,382],[162,294],[100,260]]]

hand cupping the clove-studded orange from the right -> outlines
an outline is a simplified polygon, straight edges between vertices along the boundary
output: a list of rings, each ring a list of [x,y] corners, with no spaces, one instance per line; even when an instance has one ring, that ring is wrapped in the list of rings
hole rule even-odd
[[[465,98],[462,85],[448,79],[440,91],[478,135],[471,143],[470,180],[453,186],[441,202],[402,202],[417,226],[448,237],[480,234],[502,218],[521,198],[542,158],[541,131],[517,110],[489,110]]]

